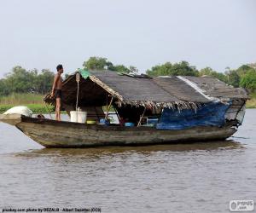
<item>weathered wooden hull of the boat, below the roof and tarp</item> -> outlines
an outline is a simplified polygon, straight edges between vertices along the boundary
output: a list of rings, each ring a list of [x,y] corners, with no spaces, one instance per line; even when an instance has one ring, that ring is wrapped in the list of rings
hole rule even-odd
[[[8,123],[6,121],[5,123]],[[223,127],[201,126],[187,130],[156,130],[152,127],[78,124],[22,116],[17,116],[16,119],[13,117],[9,124],[15,125],[25,135],[44,147],[120,146],[215,141],[224,140],[236,132],[236,128],[232,124],[226,124]]]

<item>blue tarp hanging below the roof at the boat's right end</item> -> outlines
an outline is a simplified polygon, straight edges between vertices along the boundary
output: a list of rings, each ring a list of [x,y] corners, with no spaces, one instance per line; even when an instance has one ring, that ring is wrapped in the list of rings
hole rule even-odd
[[[229,104],[212,102],[197,109],[178,110],[165,108],[156,129],[183,130],[195,126],[222,126],[225,123],[224,114]]]

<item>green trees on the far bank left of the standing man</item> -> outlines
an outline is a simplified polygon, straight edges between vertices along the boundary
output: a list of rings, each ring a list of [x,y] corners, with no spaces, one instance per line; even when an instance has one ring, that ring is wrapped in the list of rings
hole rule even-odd
[[[0,95],[12,93],[45,94],[49,91],[54,80],[54,73],[49,70],[37,69],[26,71],[21,66],[15,66],[5,78],[0,80]]]

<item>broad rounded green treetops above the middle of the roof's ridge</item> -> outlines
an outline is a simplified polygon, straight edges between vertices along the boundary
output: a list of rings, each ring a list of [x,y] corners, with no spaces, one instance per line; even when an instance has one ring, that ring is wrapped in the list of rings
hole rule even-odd
[[[151,77],[156,76],[198,76],[199,72],[196,70],[195,66],[190,66],[189,62],[181,61],[179,63],[172,64],[171,62],[166,62],[163,65],[153,66],[146,72]]]

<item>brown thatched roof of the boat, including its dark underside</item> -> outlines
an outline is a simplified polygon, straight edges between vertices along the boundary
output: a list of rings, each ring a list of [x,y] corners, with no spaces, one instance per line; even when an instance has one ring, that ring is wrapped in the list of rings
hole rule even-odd
[[[103,106],[109,96],[119,107],[122,105],[153,108],[196,108],[211,101],[247,99],[244,89],[235,89],[211,77],[158,77],[129,76],[111,71],[80,71],[79,104]],[[85,73],[85,74],[84,74]],[[62,101],[74,103],[77,92],[75,74],[62,87]],[[54,104],[46,95],[44,101]]]

